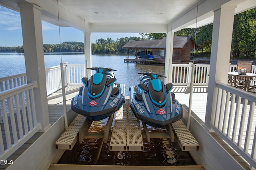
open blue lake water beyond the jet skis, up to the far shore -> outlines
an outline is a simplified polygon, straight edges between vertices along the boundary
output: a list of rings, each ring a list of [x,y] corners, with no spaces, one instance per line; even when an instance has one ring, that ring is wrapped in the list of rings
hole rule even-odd
[[[92,67],[108,67],[116,69],[117,83],[126,84],[125,95],[128,96],[129,86],[139,84],[138,72],[149,71],[164,75],[164,66],[144,65],[136,63],[124,63],[126,55],[92,55]],[[132,58],[130,56],[130,58]],[[135,57],[134,57],[135,58]],[[26,72],[23,53],[0,53],[0,77],[10,76]],[[44,55],[45,68],[60,65],[62,62],[68,64],[84,64],[84,54],[48,53]],[[95,71],[92,71],[95,73]]]

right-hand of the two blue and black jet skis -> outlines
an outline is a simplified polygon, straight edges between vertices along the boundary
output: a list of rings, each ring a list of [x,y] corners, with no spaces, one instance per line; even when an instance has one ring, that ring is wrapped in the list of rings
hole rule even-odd
[[[130,86],[130,107],[132,113],[142,122],[157,127],[165,127],[182,118],[182,105],[170,92],[173,85],[164,84],[159,77],[150,72],[138,73],[140,84]]]

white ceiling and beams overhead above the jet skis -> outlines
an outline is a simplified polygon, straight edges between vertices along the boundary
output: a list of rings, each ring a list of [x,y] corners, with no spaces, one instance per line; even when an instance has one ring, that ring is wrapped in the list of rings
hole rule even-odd
[[[42,20],[58,25],[58,7],[60,26],[76,27],[80,30],[112,32],[110,27],[102,25],[126,25],[130,32],[140,31],[140,25],[154,27],[152,31],[170,31],[172,29],[195,27],[196,6],[198,7],[197,27],[213,22],[213,10],[223,5],[237,6],[235,12],[240,13],[256,6],[255,0],[1,0],[0,5],[19,11],[17,4],[36,4],[42,8]],[[184,23],[183,17],[192,22]],[[133,25],[132,27],[130,25]],[[95,29],[95,27],[101,27]],[[114,27],[113,31],[120,29]],[[157,28],[158,27],[158,28]],[[161,29],[162,28],[162,29]],[[167,29],[168,28],[168,29]],[[175,31],[176,31],[175,30]],[[150,31],[150,29],[148,29]],[[145,31],[144,31],[145,32]]]

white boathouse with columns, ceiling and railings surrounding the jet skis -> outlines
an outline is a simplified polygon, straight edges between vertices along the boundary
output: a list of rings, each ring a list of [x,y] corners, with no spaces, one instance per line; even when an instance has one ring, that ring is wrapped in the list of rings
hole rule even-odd
[[[234,16],[255,8],[256,0],[147,2],[145,3],[144,0],[0,1],[1,6],[20,12],[26,66],[26,73],[0,79],[0,169],[248,170],[256,168],[255,94],[228,84],[228,72],[236,67],[230,65]],[[85,64],[78,64],[75,69],[72,68],[73,64],[61,65],[68,67],[66,72],[59,67],[52,68],[52,72],[45,69],[42,20],[60,27],[74,27],[84,32]],[[174,32],[209,23],[213,23],[210,64],[172,64]],[[164,81],[174,85],[173,92],[177,94],[176,99],[183,104],[182,124],[188,127],[192,136],[198,141],[198,150],[189,151],[198,166],[191,168],[190,166],[57,164],[66,148],[62,147],[62,144],[58,144],[56,148],[56,141],[64,132],[68,137],[73,135],[74,139],[82,136],[78,135],[78,130],[81,128],[69,129],[70,126],[66,126],[75,124],[73,120],[78,117],[77,113],[70,113],[68,110],[65,116],[65,110],[68,109],[65,97],[67,96],[70,103],[68,94],[72,91],[77,94],[78,88],[65,92],[65,87],[81,86],[83,83],[80,76],[92,75],[92,70],[87,69],[93,66],[91,33],[110,32],[167,34]],[[61,70],[62,74],[60,74]],[[68,77],[63,78],[64,75]],[[51,94],[60,88],[62,90],[57,97],[63,99],[50,97],[50,100],[48,93]],[[77,121],[79,122],[81,121]],[[126,126],[127,122],[124,120],[123,124]],[[110,129],[112,129],[111,125]],[[137,129],[140,130],[140,127]],[[183,129],[180,129],[181,133],[182,131]],[[140,135],[141,133],[140,131]],[[128,134],[130,133],[124,136],[128,137]],[[107,134],[106,137],[109,135]],[[67,147],[69,149],[69,146]]]

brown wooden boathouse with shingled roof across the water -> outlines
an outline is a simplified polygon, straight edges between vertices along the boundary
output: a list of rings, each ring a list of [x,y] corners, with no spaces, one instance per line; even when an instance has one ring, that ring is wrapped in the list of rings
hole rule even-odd
[[[188,64],[194,55],[194,40],[191,36],[178,36],[173,39],[173,55],[172,63],[174,64]],[[150,54],[154,60],[158,62],[165,62],[166,56],[166,37],[163,39],[150,39],[150,40],[131,40],[122,47],[128,50],[135,49],[136,59],[141,55]]]

